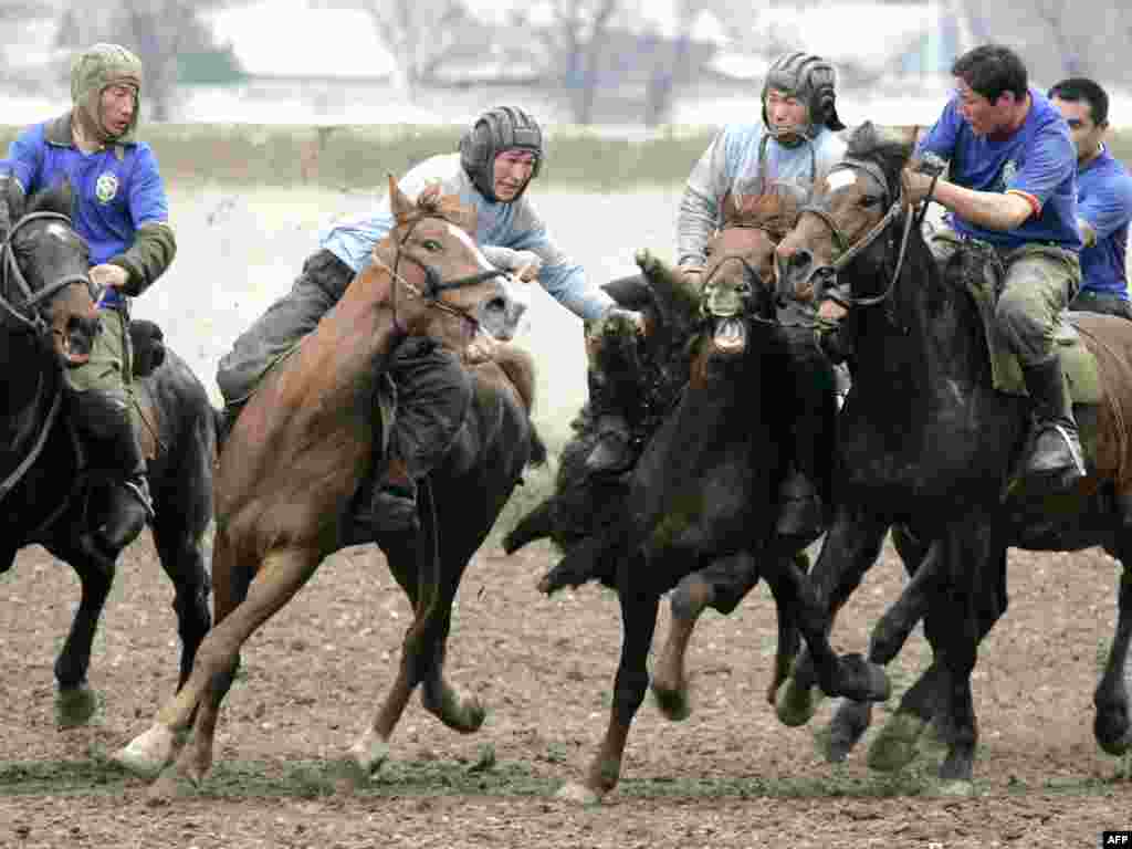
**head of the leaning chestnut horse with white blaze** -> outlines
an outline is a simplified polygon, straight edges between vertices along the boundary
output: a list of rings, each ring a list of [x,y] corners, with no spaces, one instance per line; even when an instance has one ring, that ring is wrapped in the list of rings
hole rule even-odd
[[[389,175],[395,225],[374,248],[392,275],[394,320],[408,335],[430,336],[463,350],[480,328],[515,335],[525,289],[495,268],[477,247],[475,211],[432,186],[413,201]]]

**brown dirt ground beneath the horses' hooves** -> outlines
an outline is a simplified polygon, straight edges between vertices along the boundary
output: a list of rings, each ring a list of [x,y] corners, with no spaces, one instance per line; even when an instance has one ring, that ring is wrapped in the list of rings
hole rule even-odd
[[[775,634],[760,588],[732,616],[705,616],[689,657],[693,715],[668,722],[650,697],[620,786],[593,808],[554,794],[604,728],[619,616],[599,588],[540,595],[552,558],[548,546],[505,557],[489,543],[465,577],[448,669],[488,704],[483,728],[456,735],[414,698],[371,786],[340,795],[325,765],[372,719],[409,617],[375,549],[340,552],[249,643],[209,780],[151,807],[145,782],[104,761],[174,684],[172,590],[149,540],[123,555],[95,643],[102,710],[67,731],[52,662],[78,584],[43,550],[23,551],[0,576],[0,847],[1075,848],[1132,827],[1132,756],[1104,755],[1091,731],[1118,575],[1100,551],[1013,552],[1010,612],[975,678],[974,798],[933,796],[929,754],[895,775],[869,772],[864,746],[827,765],[815,736],[830,704],[807,727],[782,727],[763,697]],[[840,650],[864,648],[900,582],[889,551],[839,623]],[[890,668],[898,694],[925,657],[917,631]]]

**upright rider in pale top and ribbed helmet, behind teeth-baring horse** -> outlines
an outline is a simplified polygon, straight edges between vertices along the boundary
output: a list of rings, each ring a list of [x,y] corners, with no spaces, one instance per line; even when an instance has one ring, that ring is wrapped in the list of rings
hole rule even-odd
[[[844,129],[837,113],[837,74],[821,57],[801,51],[777,58],[766,71],[762,89],[762,121],[723,127],[696,162],[688,177],[677,215],[678,266],[698,281],[706,256],[704,248],[723,221],[731,195],[757,195],[775,186],[792,185],[808,192],[815,178],[839,162],[846,143],[837,135]],[[813,348],[808,345],[807,348]],[[822,515],[822,498],[812,478],[823,461],[814,457],[815,430],[807,427],[821,410],[823,381],[803,354],[797,362],[794,430],[795,463],[780,492],[779,532],[803,535]],[[591,398],[594,396],[591,369]],[[607,413],[599,420],[600,441],[590,455],[593,472],[623,472],[636,462],[626,418]],[[805,471],[803,470],[805,466]]]

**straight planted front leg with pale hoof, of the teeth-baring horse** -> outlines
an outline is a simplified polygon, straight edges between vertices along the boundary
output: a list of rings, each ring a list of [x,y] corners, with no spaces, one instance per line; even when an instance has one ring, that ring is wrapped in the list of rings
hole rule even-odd
[[[635,563],[643,566],[644,560]],[[633,571],[632,565],[628,569]],[[643,568],[636,572],[644,576]],[[580,805],[601,801],[617,786],[629,728],[649,688],[649,649],[657,629],[660,595],[649,588],[632,586],[623,572],[618,580],[618,599],[621,606],[621,658],[614,680],[609,724],[582,783],[567,782],[557,794],[558,798]]]

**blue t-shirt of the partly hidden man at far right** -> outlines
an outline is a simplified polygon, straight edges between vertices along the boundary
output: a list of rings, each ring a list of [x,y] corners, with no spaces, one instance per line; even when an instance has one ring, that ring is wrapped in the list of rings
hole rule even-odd
[[[1081,249],[1081,291],[1129,299],[1126,251],[1132,220],[1132,175],[1101,148],[1100,155],[1077,174],[1077,214],[1097,233],[1090,248]]]

